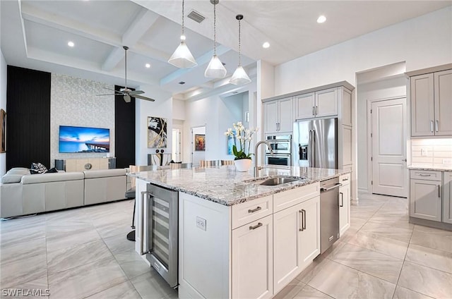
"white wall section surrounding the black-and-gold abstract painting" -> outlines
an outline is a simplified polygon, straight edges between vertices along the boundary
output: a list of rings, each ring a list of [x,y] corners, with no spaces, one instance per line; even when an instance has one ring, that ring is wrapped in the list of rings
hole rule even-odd
[[[159,87],[143,85],[145,97],[155,99],[155,102],[136,99],[135,104],[135,130],[136,130],[136,165],[148,165],[148,154],[155,154],[155,149],[148,149],[148,116],[167,118],[167,147],[162,149],[165,153],[172,151],[172,111],[173,99],[169,92],[163,92]]]

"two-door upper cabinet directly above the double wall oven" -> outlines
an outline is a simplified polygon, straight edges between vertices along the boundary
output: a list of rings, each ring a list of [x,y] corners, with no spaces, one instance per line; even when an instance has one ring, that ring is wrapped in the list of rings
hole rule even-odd
[[[263,103],[263,133],[290,133],[292,126],[292,97]]]

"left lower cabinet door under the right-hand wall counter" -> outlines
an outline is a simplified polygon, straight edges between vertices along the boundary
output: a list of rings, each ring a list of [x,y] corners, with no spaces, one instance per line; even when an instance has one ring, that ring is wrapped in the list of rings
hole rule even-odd
[[[410,216],[441,221],[441,181],[410,180]]]

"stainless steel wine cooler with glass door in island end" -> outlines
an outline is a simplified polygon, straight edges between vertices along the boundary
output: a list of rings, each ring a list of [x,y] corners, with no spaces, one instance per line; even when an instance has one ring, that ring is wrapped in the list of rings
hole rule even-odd
[[[178,200],[177,191],[152,184],[141,193],[141,255],[173,288],[178,284]]]

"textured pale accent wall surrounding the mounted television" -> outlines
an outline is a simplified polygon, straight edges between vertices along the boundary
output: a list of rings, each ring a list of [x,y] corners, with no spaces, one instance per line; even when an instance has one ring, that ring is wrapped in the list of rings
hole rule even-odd
[[[52,73],[50,87],[50,164],[54,159],[105,157],[105,153],[59,152],[59,126],[110,129],[110,157],[114,157],[114,95],[96,97],[114,85]]]

